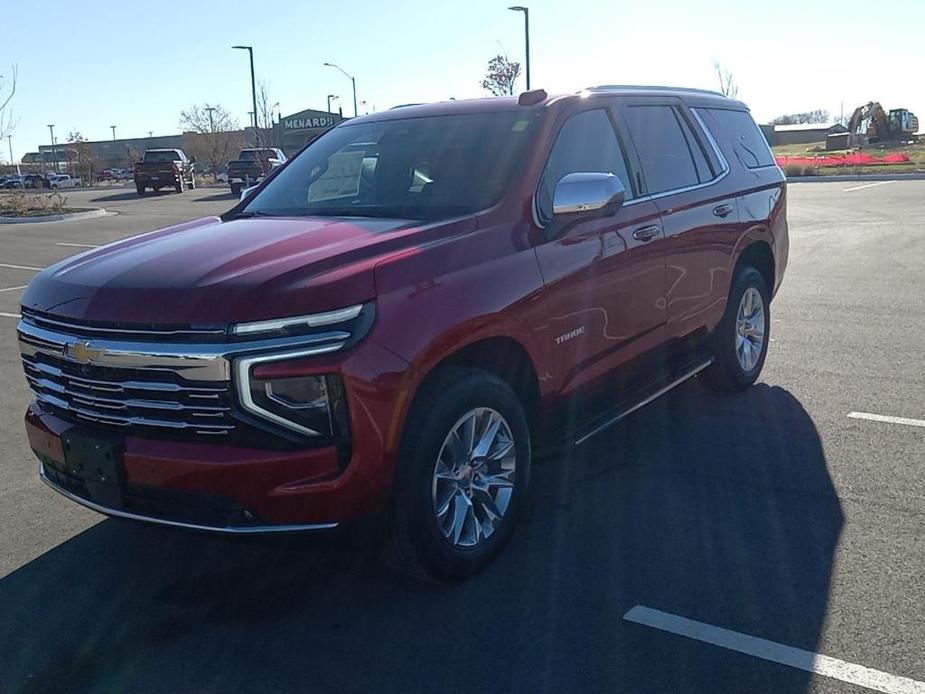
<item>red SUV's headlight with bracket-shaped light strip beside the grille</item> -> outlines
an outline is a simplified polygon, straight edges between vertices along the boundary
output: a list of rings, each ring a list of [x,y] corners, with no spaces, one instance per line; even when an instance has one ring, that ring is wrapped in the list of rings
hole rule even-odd
[[[309,356],[305,352],[244,357],[237,363],[238,395],[248,412],[305,436],[349,439],[344,385],[336,374],[258,378],[254,365]]]

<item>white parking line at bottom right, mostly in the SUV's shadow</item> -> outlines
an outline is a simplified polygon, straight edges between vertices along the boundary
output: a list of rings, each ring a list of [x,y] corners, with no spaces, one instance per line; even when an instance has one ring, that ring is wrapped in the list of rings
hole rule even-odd
[[[925,682],[898,677],[888,672],[855,665],[838,658],[819,655],[802,648],[785,646],[781,643],[749,636],[738,631],[723,629],[712,624],[697,622],[651,607],[636,605],[623,615],[628,622],[635,622],[653,629],[661,629],[678,636],[709,643],[730,651],[780,663],[789,667],[812,672],[841,682],[856,684],[886,694],[925,694]]]

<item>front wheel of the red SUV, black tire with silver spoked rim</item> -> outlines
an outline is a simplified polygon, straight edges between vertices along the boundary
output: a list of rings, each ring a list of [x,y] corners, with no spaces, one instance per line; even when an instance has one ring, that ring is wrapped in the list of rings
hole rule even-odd
[[[458,581],[491,563],[530,479],[530,431],[511,387],[484,371],[447,371],[415,402],[398,460],[390,518],[398,568]]]

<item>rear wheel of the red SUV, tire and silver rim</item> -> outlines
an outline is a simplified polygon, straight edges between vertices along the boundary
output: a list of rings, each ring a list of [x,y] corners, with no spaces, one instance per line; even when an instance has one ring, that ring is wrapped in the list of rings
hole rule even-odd
[[[732,279],[726,312],[713,331],[713,364],[704,381],[719,392],[751,386],[764,366],[771,327],[771,295],[761,273],[746,265]]]

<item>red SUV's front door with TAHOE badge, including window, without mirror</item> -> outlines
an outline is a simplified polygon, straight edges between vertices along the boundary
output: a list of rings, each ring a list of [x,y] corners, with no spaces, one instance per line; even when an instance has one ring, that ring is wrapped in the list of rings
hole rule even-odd
[[[576,172],[617,175],[626,202],[616,213],[568,222],[536,247],[546,284],[558,376],[569,392],[596,381],[664,340],[665,259],[659,210],[639,199],[636,162],[627,156],[612,111],[573,113],[546,163],[538,205],[551,205],[556,183]],[[551,210],[543,209],[551,218]]]

